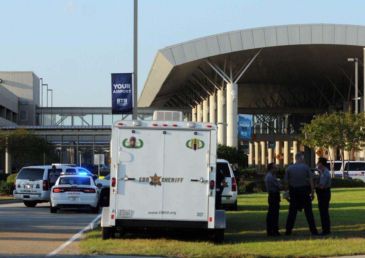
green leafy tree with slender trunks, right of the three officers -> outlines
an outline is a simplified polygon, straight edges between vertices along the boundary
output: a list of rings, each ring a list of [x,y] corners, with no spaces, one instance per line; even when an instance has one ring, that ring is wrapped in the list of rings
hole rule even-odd
[[[365,147],[364,113],[333,112],[328,116],[316,115],[311,123],[301,124],[305,138],[299,138],[303,145],[311,148],[322,148],[328,151],[331,171],[334,176],[334,153],[330,149],[339,149],[342,156],[342,178],[345,178],[344,151],[360,151]],[[333,158],[333,159],[332,159]],[[349,166],[347,166],[348,168]]]

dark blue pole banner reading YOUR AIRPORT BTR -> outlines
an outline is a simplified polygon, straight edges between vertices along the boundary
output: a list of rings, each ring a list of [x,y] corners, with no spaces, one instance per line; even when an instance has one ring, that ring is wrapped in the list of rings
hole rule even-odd
[[[112,114],[133,113],[132,73],[112,73]]]

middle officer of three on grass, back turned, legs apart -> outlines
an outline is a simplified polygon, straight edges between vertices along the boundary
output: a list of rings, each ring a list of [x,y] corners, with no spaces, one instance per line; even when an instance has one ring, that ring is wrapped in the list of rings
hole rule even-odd
[[[302,205],[304,213],[307,218],[309,230],[313,235],[318,235],[316,223],[314,221],[312,211],[312,201],[314,200],[314,182],[313,173],[311,169],[303,164],[304,155],[299,152],[295,154],[295,163],[290,165],[285,173],[285,186],[284,191],[287,192],[289,188],[290,204],[289,214],[287,218],[287,224],[285,226],[285,235],[291,235],[295,223],[295,218],[298,212],[298,208]],[[308,185],[307,178],[309,179],[310,186]],[[311,196],[310,196],[311,193]]]

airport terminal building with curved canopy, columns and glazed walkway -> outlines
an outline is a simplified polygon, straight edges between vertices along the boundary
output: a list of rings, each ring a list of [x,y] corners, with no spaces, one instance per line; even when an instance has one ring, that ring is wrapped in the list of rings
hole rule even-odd
[[[314,166],[316,150],[297,140],[300,123],[319,113],[354,112],[356,97],[358,112],[364,110],[364,47],[365,26],[342,24],[252,28],[169,46],[157,51],[151,65],[138,119],[165,109],[182,111],[185,120],[218,123],[218,142],[245,143],[248,165],[257,171],[274,161],[288,166],[299,151]],[[0,79],[2,130],[27,126],[52,142],[57,160],[45,163],[82,166],[93,162],[93,154],[105,154],[110,170],[111,125],[131,115],[112,115],[110,107],[40,107],[40,80],[33,72],[0,72]],[[250,139],[238,137],[238,114],[253,116]],[[11,163],[0,153],[0,172],[11,173]]]

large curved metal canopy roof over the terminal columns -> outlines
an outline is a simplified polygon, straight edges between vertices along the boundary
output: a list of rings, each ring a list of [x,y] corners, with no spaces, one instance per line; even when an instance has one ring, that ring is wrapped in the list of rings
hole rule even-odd
[[[138,107],[189,106],[226,82],[208,65],[237,77],[238,107],[316,107],[354,97],[354,63],[365,46],[365,26],[296,24],[231,31],[158,50]],[[207,62],[208,61],[208,62]],[[225,68],[224,68],[225,67]],[[362,63],[359,96],[362,96]],[[204,76],[205,74],[205,76]],[[352,83],[351,83],[352,80]],[[199,96],[200,95],[200,96]]]

